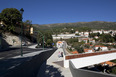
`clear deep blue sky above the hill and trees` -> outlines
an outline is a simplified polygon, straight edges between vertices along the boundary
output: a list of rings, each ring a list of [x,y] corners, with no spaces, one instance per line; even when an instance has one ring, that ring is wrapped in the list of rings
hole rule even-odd
[[[5,8],[23,8],[32,24],[116,22],[116,0],[0,0],[0,12]]]

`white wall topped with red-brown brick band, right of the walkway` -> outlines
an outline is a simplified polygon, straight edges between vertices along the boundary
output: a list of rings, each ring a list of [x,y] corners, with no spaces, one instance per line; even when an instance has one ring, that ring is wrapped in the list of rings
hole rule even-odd
[[[77,55],[64,55],[64,67],[69,67],[69,60],[74,67],[78,69],[114,59],[116,59],[116,50]]]

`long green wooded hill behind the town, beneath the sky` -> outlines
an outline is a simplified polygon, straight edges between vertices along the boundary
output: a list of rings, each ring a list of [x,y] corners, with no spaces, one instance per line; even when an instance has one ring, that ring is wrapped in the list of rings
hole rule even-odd
[[[76,22],[76,23],[57,23],[38,25],[33,24],[36,29],[49,31],[52,34],[74,33],[78,31],[91,31],[92,29],[116,30],[116,22],[92,21],[92,22]]]

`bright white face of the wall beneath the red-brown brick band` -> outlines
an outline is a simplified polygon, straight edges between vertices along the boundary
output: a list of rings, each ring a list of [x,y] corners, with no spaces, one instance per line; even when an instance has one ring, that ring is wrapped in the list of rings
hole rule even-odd
[[[107,51],[106,51],[107,52]],[[82,58],[71,59],[71,62],[76,68],[82,68],[94,64],[99,64],[105,61],[110,61],[116,59],[116,53],[108,53],[96,56],[88,56]]]

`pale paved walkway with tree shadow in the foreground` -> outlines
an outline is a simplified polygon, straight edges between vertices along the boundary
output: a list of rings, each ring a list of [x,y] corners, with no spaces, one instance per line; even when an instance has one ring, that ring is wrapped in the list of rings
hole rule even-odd
[[[69,68],[63,67],[63,57],[58,58],[59,51],[56,50],[53,55],[42,64],[37,77],[72,77]]]

